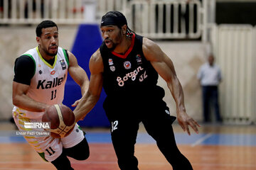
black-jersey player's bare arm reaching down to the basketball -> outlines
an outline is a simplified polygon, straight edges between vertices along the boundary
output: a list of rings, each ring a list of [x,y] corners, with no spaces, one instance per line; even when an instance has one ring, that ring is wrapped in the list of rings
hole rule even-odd
[[[76,122],[85,118],[85,115],[92,110],[100,98],[103,84],[102,72],[104,67],[99,49],[90,58],[89,68],[91,73],[89,89],[82,96],[78,106],[73,111]]]

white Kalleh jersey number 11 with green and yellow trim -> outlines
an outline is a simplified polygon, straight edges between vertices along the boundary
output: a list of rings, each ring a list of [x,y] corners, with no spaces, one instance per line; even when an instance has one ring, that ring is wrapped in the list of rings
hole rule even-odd
[[[41,56],[38,47],[28,50],[23,55],[31,57],[35,64],[34,75],[27,96],[33,100],[48,105],[60,104],[63,102],[65,81],[68,76],[68,57],[63,48],[58,47],[53,66],[48,64]],[[23,118],[40,119],[43,113],[34,113],[14,107],[13,112]],[[22,114],[20,114],[22,113]]]

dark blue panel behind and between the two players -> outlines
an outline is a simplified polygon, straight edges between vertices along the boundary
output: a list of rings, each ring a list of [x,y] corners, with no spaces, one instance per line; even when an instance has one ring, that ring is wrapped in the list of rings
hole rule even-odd
[[[85,69],[90,78],[89,61],[91,55],[100,47],[102,37],[98,25],[81,24],[78,28],[78,33],[75,37],[72,52],[78,59],[80,67]],[[87,114],[84,120],[78,122],[83,127],[108,127],[110,123],[107,120],[105,111],[102,108],[102,103],[105,100],[106,94],[102,89],[100,100],[97,102],[95,108]],[[67,83],[65,85],[65,97],[63,104],[69,106],[81,98],[80,86],[73,81],[68,75]]]

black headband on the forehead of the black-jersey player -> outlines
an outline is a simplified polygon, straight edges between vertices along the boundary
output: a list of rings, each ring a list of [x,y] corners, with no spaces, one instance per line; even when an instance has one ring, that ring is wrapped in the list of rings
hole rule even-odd
[[[102,21],[100,23],[100,26],[118,26],[119,28],[121,28],[124,25],[127,25],[127,20],[126,18],[122,18],[122,17],[107,17],[107,18],[102,18]]]

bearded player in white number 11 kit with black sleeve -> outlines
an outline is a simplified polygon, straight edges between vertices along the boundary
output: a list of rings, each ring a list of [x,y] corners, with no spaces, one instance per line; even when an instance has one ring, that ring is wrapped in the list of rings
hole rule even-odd
[[[36,41],[37,47],[28,50],[15,61],[13,117],[19,130],[44,132],[43,129],[25,128],[24,124],[41,122],[49,106],[63,102],[68,73],[80,86],[82,94],[87,91],[89,80],[76,57],[58,47],[58,26],[53,21],[38,24]],[[75,101],[74,105],[78,102]],[[68,157],[78,160],[89,157],[87,140],[78,125],[75,125],[70,135],[61,139],[46,135],[24,137],[43,159],[57,169],[73,169]]]

